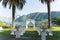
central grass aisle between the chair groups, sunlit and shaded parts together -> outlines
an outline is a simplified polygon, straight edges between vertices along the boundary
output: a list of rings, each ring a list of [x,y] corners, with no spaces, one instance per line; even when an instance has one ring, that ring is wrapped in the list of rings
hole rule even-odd
[[[33,37],[33,38],[34,37],[39,37],[39,35],[36,31],[36,28],[35,29],[34,28],[28,28],[23,36],[24,37]]]

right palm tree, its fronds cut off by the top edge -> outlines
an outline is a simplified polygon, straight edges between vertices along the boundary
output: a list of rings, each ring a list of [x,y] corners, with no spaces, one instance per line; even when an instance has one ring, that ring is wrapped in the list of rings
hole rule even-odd
[[[54,0],[41,0],[41,3],[46,3],[47,4],[47,9],[48,9],[48,28],[51,27],[51,14],[50,14],[50,3]]]

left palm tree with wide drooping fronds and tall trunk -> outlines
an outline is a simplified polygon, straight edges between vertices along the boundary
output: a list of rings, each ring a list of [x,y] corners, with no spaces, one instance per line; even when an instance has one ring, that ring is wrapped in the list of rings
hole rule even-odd
[[[6,7],[9,5],[9,8],[12,7],[12,28],[14,30],[14,20],[15,20],[15,11],[16,8],[22,10],[23,6],[25,5],[25,0],[3,0],[2,5]]]

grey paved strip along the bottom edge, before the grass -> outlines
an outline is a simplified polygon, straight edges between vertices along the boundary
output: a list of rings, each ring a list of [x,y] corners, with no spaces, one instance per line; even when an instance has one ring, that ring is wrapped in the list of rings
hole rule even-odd
[[[40,38],[28,38],[28,37],[14,38],[14,36],[0,35],[0,40],[40,40]]]

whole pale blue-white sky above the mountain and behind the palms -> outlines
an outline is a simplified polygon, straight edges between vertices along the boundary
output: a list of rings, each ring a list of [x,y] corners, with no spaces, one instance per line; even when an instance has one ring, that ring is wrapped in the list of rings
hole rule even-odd
[[[60,0],[55,0],[51,3],[51,11],[60,11]],[[39,0],[26,0],[22,10],[16,9],[16,17],[27,15],[33,12],[47,12],[47,5],[42,4]],[[0,3],[0,17],[12,17],[12,9],[9,9],[9,6],[4,8],[2,3]]]

